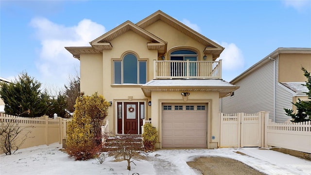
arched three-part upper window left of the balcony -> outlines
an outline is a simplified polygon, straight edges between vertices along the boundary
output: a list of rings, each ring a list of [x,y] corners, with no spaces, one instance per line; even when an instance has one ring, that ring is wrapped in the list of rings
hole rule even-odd
[[[114,61],[114,84],[145,84],[147,63],[134,54],[126,54],[122,61]]]

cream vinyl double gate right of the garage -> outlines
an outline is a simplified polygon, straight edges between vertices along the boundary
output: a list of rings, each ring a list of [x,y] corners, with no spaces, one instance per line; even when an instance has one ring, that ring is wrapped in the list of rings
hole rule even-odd
[[[220,147],[264,147],[264,112],[220,113]]]

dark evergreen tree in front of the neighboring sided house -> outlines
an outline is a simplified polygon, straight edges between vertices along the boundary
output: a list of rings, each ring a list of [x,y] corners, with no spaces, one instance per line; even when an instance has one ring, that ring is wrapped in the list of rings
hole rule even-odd
[[[297,113],[293,113],[293,109],[286,109],[284,108],[286,115],[290,116],[292,118],[292,122],[298,123],[298,122],[306,122],[311,121],[311,77],[310,72],[308,72],[305,68],[301,68],[301,70],[304,72],[304,76],[307,78],[308,81],[306,81],[306,86],[309,90],[309,92],[305,92],[307,94],[309,101],[301,101],[298,99],[298,102],[292,103],[296,106]]]

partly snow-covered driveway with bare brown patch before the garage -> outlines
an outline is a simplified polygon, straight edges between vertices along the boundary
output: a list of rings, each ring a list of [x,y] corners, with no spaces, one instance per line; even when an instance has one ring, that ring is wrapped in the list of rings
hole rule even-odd
[[[311,175],[311,161],[265,148],[161,149],[156,175]]]

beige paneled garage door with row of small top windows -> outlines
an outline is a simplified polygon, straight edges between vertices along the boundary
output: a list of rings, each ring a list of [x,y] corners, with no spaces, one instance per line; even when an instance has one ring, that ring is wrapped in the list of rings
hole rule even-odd
[[[207,104],[163,104],[162,147],[206,148]]]

